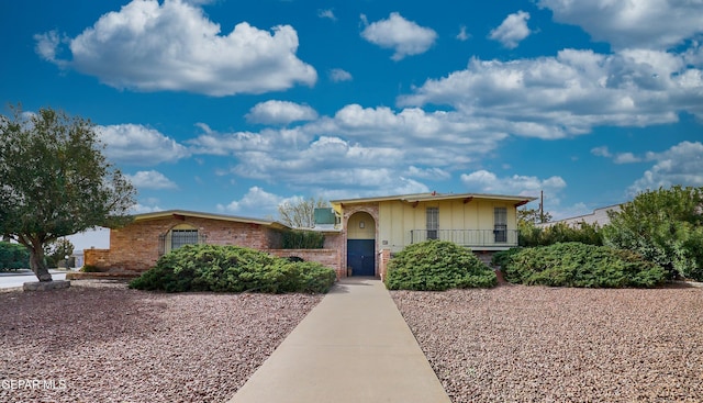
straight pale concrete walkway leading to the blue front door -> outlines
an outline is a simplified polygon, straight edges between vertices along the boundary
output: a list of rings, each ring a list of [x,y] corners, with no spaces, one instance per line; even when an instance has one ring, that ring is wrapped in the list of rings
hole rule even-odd
[[[380,280],[338,282],[228,403],[450,403]]]

